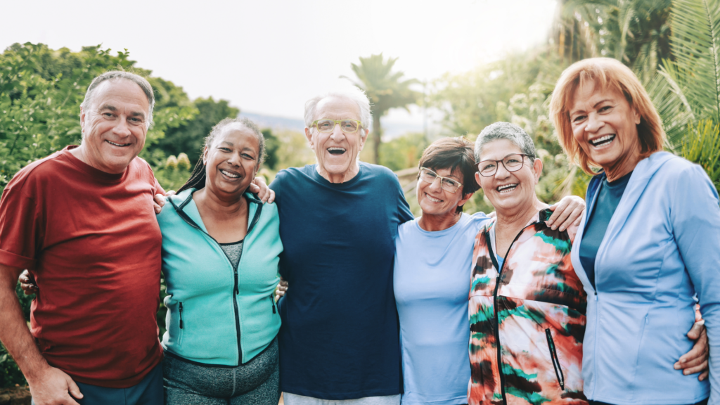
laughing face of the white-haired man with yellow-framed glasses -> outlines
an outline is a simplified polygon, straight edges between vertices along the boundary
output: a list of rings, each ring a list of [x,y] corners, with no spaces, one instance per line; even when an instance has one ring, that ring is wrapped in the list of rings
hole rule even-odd
[[[315,107],[314,120],[360,120],[360,109],[351,99],[325,97]],[[369,130],[359,128],[354,133],[344,133],[340,125],[333,132],[322,133],[318,128],[305,128],[310,148],[318,159],[318,172],[333,183],[346,182],[359,171],[358,154],[367,139]]]

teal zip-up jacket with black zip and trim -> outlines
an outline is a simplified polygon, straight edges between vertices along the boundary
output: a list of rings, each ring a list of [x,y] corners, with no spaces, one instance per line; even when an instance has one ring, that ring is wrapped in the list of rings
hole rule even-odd
[[[282,252],[277,207],[245,194],[248,233],[233,269],[208,235],[193,192],[169,197],[158,215],[168,293],[163,348],[202,365],[241,365],[268,347],[280,329],[273,297]]]

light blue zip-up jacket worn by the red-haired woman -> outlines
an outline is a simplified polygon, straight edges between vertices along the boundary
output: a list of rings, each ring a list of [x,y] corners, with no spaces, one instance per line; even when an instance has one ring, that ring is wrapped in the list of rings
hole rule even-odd
[[[595,285],[580,244],[604,174],[588,186],[572,265],[588,292],[583,391],[610,404],[720,400],[720,207],[700,166],[667,152],[636,166],[595,259]],[[693,347],[697,293],[710,342],[710,381],[672,365]]]

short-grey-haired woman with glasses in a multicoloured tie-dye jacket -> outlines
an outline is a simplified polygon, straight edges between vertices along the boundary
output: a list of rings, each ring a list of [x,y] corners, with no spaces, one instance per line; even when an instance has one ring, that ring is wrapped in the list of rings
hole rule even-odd
[[[476,174],[495,207],[475,238],[469,296],[469,404],[585,404],[587,295],[570,263],[572,237],[546,225],[535,195],[542,163],[516,125],[495,123],[475,144]]]

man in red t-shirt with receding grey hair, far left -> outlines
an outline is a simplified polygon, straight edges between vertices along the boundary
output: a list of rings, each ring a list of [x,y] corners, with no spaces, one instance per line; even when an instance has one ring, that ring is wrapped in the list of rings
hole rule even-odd
[[[164,191],[135,159],[153,104],[140,76],[97,77],[81,146],[25,166],[0,199],[0,340],[37,405],[163,402],[153,196]],[[41,291],[30,331],[15,296],[23,269]]]

